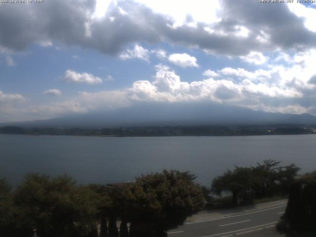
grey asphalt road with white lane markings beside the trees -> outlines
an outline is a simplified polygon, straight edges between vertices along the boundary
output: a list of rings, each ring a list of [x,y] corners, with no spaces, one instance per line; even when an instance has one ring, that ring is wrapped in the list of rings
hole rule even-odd
[[[277,221],[286,208],[284,203],[263,206],[263,208],[249,208],[247,211],[231,213],[225,216],[188,221],[177,229],[168,231],[168,237],[235,237],[235,236],[265,236],[260,232],[275,229]],[[256,234],[254,234],[256,232]],[[270,235],[269,235],[270,236]],[[278,235],[279,236],[279,235]]]

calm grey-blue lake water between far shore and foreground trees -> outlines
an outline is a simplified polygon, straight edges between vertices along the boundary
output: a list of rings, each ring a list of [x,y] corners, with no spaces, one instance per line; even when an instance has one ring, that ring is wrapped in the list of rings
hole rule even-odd
[[[249,137],[76,137],[0,134],[0,176],[70,174],[79,183],[131,181],[166,169],[191,171],[204,185],[227,168],[264,159],[316,170],[316,135]]]

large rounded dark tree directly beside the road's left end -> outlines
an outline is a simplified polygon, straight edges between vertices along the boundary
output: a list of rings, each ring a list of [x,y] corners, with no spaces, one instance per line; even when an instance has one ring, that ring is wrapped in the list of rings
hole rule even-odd
[[[131,186],[130,237],[159,235],[196,213],[203,205],[203,194],[195,178],[176,170],[138,177]]]

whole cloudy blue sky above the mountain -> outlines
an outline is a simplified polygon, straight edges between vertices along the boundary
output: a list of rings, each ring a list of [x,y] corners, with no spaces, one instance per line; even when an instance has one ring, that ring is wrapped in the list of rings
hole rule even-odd
[[[316,3],[0,1],[0,122],[135,103],[316,115]]]

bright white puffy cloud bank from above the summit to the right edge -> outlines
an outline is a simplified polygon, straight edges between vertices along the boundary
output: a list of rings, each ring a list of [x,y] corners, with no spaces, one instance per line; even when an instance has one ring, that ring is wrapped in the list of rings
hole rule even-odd
[[[269,70],[227,67],[211,71],[212,75],[218,75],[216,80],[209,78],[190,83],[181,81],[173,70],[159,64],[153,81],[133,83],[129,98],[136,101],[212,101],[271,112],[312,113],[316,103],[316,86],[311,84],[316,74],[314,57],[315,50],[300,53],[291,60],[304,58],[304,63],[292,67],[277,65]]]

